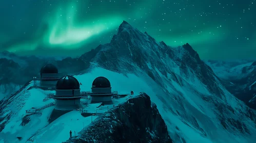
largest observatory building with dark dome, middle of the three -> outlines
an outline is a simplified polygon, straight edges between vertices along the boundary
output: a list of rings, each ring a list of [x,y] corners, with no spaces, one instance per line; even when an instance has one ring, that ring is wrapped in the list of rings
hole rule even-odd
[[[80,84],[72,76],[64,76],[57,81],[55,99],[56,110],[73,110],[80,108]]]

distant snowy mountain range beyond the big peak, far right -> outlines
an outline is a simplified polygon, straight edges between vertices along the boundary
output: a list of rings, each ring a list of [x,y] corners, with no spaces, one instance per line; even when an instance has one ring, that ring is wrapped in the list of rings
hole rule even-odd
[[[256,60],[208,60],[206,63],[235,97],[256,109]]]

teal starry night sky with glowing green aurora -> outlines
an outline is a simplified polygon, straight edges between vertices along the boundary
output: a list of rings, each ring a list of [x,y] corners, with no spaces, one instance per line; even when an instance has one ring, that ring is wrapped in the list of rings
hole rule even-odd
[[[256,58],[255,0],[8,0],[0,16],[0,51],[20,55],[80,56],[126,20],[202,59]]]

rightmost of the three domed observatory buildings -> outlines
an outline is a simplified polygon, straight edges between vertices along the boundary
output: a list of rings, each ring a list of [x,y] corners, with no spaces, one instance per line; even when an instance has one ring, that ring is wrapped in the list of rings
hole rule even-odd
[[[107,103],[112,101],[111,85],[107,78],[97,77],[92,82],[91,103]]]

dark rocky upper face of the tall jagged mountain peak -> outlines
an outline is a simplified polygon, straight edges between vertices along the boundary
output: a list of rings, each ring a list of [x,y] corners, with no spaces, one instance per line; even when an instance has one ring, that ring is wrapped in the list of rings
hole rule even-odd
[[[118,33],[113,36],[109,44],[99,45],[80,58],[119,73],[135,73],[134,70],[139,67],[162,86],[165,85],[155,68],[163,76],[168,77],[170,74],[172,80],[179,82],[173,72],[173,66],[177,64],[184,76],[189,78],[188,73],[193,73],[216,96],[221,97],[223,94],[216,86],[218,80],[212,69],[200,59],[198,53],[188,43],[175,48],[170,47],[163,41],[157,42],[146,32],[142,33],[133,28],[126,21],[120,25]]]

